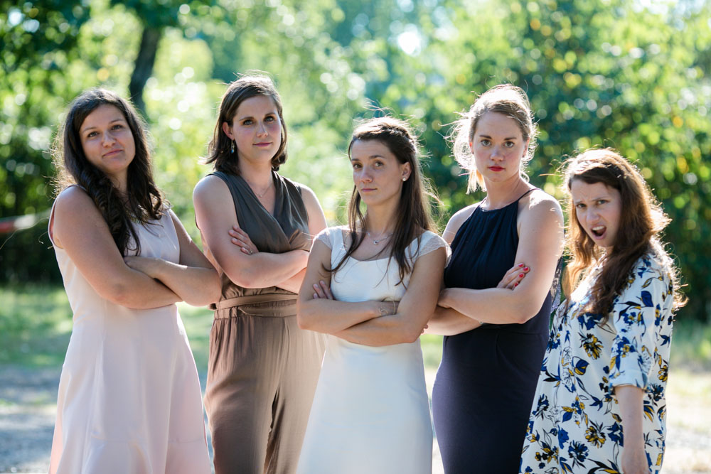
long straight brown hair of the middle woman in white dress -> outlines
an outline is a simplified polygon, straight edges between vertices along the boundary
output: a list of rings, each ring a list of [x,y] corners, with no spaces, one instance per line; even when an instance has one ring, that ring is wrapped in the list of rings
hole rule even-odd
[[[429,209],[429,200],[432,199],[437,203],[440,201],[437,195],[432,192],[429,183],[425,181],[419,169],[419,147],[407,122],[392,117],[379,117],[361,122],[353,131],[351,144],[348,145],[348,158],[351,157],[353,144],[358,140],[380,141],[395,155],[399,163],[410,163],[412,169],[407,181],[402,183],[400,205],[397,208],[399,212],[395,217],[397,222],[395,222],[395,232],[390,240],[390,246],[383,248],[383,251],[390,249],[390,259],[395,258],[400,283],[402,283],[405,276],[412,271],[412,264],[407,259],[405,251],[415,238],[418,239],[419,248],[419,237],[423,230],[437,232]],[[360,210],[360,202],[360,193],[354,185],[351,202],[348,204],[351,244],[341,262],[338,262],[338,265],[331,270],[333,273],[345,264],[348,257],[351,257],[365,239],[365,215]]]

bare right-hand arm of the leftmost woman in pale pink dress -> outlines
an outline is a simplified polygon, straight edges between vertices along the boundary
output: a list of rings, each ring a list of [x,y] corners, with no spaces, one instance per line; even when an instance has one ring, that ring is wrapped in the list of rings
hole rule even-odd
[[[180,244],[180,262],[151,257],[124,257],[128,266],[158,279],[193,306],[205,306],[220,298],[220,277],[186,232],[178,216],[169,211]]]

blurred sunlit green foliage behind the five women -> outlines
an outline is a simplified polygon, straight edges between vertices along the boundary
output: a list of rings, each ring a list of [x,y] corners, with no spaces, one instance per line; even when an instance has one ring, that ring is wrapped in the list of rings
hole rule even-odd
[[[555,171],[566,156],[612,146],[635,161],[673,218],[665,238],[690,296],[680,318],[707,321],[709,2],[0,0],[0,217],[48,208],[48,149],[66,104],[95,85],[127,95],[146,24],[162,28],[143,93],[156,179],[194,237],[191,190],[209,171],[199,158],[237,72],[274,76],[289,127],[282,172],[316,191],[329,222],[352,188],[353,119],[379,107],[419,131],[447,212],[478,198],[444,136],[477,94],[513,82],[540,127],[531,181],[563,199]],[[47,245],[26,240],[0,249],[0,281],[55,278]],[[36,271],[10,265],[10,253]]]

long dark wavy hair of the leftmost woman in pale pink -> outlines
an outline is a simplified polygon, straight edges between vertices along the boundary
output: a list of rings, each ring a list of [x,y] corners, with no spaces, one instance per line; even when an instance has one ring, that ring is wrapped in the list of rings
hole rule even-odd
[[[126,195],[111,179],[87,159],[79,130],[87,116],[102,105],[119,109],[131,129],[136,156],[129,164]],[[133,237],[138,253],[141,244],[132,222],[145,225],[158,220],[168,203],[153,181],[151,153],[146,139],[145,124],[133,105],[115,92],[91,89],[83,92],[69,106],[53,146],[53,161],[58,171],[55,191],[59,194],[70,185],[79,185],[92,198],[104,217],[119,252],[125,255]]]

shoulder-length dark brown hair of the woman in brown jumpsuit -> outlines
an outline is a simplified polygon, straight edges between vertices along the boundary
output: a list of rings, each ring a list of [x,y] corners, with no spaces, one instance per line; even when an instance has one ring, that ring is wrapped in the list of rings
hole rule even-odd
[[[228,85],[220,103],[218,123],[215,124],[213,138],[208,146],[208,157],[204,161],[206,164],[213,163],[215,171],[240,174],[240,151],[235,149],[232,152],[232,140],[225,134],[223,123],[232,126],[232,120],[235,119],[240,104],[258,95],[267,96],[274,101],[279,121],[282,122],[282,142],[279,144],[277,153],[272,157],[272,169],[279,171],[279,166],[287,161],[287,124],[284,122],[282,99],[279,97],[277,87],[267,75],[243,75]]]

